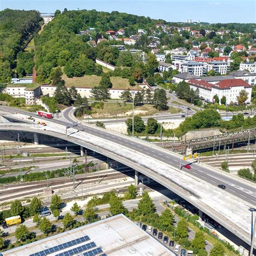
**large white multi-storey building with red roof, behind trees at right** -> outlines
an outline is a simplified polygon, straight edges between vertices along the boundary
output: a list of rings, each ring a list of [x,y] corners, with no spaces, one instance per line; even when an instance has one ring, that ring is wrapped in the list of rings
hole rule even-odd
[[[219,99],[223,96],[226,97],[226,104],[230,104],[231,102],[237,103],[237,96],[241,90],[246,90],[248,92],[246,103],[251,102],[252,85],[246,83],[242,79],[225,79],[217,84],[210,84],[205,80],[191,79],[188,83],[190,84],[191,89],[199,89],[199,97],[206,102],[213,102],[214,95],[218,95]]]

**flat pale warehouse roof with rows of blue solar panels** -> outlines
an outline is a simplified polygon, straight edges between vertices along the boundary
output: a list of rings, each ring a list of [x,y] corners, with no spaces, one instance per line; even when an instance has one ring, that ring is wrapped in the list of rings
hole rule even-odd
[[[123,214],[3,252],[4,256],[74,254],[175,255]]]

